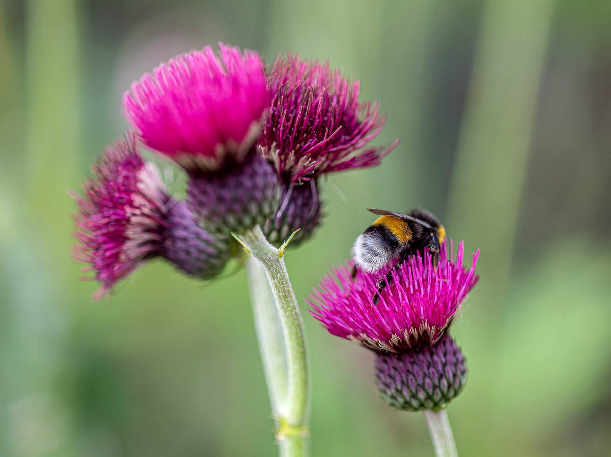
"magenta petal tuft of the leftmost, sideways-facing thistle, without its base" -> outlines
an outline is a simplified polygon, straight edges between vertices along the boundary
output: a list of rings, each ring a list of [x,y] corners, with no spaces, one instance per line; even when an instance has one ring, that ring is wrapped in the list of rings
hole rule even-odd
[[[161,249],[163,206],[167,200],[158,171],[136,151],[136,136],[104,149],[93,165],[93,178],[75,195],[76,245],[73,257],[89,264],[101,287],[99,300],[122,278]]]

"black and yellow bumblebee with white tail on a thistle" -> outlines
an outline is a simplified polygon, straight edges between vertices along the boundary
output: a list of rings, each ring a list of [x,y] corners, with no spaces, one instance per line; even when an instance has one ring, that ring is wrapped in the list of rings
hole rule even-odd
[[[433,256],[433,267],[437,268],[440,245],[445,238],[445,228],[439,219],[420,208],[412,209],[409,214],[367,209],[380,217],[354,243],[353,278],[357,270],[375,273],[392,261],[397,261],[392,269],[396,270],[409,256],[423,254],[425,248]],[[374,304],[379,301],[379,292],[392,281],[392,270],[378,282]]]

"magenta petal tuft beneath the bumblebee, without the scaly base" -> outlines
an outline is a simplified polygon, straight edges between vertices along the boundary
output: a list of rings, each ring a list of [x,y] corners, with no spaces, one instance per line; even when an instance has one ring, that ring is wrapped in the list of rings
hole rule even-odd
[[[354,340],[367,348],[402,353],[414,347],[431,347],[447,331],[467,294],[477,283],[473,254],[470,270],[463,267],[464,243],[454,259],[444,242],[441,259],[433,268],[428,252],[409,257],[392,273],[393,281],[380,293],[380,273],[359,271],[353,280],[350,263],[326,276],[312,295],[310,311],[329,333]]]

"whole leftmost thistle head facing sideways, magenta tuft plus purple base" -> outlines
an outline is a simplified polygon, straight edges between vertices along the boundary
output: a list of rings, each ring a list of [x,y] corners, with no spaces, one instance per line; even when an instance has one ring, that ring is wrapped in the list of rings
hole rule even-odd
[[[134,134],[104,149],[92,170],[84,196],[75,195],[73,257],[101,283],[96,300],[154,257],[201,279],[222,270],[227,240],[197,226],[186,203],[170,197],[155,165],[137,152]]]

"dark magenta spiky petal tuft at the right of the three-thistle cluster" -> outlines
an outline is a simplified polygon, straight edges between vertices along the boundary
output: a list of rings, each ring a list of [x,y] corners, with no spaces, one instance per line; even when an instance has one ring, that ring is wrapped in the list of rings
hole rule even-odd
[[[373,167],[392,151],[367,146],[382,131],[378,103],[359,103],[359,81],[329,62],[279,56],[268,71],[269,117],[259,146],[289,182]]]

